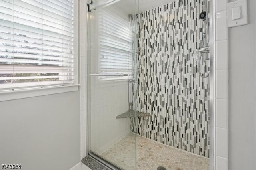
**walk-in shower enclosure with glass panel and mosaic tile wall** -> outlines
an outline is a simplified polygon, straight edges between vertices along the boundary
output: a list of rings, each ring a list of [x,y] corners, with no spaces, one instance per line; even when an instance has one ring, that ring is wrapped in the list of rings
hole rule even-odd
[[[208,4],[89,1],[90,156],[114,169],[209,169]]]

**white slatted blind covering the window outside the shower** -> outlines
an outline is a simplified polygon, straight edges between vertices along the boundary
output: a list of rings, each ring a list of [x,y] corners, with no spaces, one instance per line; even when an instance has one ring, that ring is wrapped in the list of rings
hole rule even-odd
[[[0,91],[73,83],[73,0],[0,0]]]

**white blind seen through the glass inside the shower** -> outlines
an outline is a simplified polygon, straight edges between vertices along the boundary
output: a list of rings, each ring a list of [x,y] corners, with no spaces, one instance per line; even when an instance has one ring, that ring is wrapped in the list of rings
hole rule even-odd
[[[106,9],[100,11],[100,73],[132,75],[132,38],[132,26],[128,19]],[[102,79],[128,78],[130,76]]]

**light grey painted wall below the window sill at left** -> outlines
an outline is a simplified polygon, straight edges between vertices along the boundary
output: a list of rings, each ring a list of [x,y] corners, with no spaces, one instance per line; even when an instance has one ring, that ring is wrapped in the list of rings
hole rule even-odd
[[[0,102],[0,164],[69,170],[80,161],[80,91]]]

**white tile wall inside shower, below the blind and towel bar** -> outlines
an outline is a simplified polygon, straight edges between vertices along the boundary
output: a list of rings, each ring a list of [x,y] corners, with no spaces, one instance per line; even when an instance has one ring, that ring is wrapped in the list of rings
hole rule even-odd
[[[116,119],[128,111],[128,81],[107,83],[96,78],[91,90],[91,147],[101,154],[130,132],[130,119]]]

